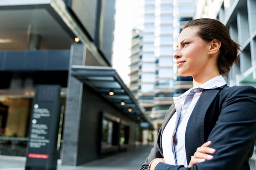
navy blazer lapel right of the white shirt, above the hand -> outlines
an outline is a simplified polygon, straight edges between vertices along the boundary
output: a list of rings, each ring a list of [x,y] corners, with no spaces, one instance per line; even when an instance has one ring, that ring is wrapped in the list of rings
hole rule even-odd
[[[185,133],[186,158],[189,164],[196,149],[204,144],[204,118],[220,89],[204,89],[193,109]]]

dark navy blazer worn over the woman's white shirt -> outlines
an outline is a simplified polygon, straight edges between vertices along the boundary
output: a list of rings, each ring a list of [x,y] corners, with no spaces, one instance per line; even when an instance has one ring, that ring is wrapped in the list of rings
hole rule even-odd
[[[153,159],[163,158],[163,130],[174,113],[173,104],[166,113],[157,142],[140,170],[148,170]],[[186,127],[186,159],[189,164],[196,149],[207,141],[212,141],[210,147],[216,150],[214,158],[191,168],[161,162],[155,170],[250,170],[248,161],[253,154],[255,139],[255,88],[224,85],[217,89],[204,89]]]

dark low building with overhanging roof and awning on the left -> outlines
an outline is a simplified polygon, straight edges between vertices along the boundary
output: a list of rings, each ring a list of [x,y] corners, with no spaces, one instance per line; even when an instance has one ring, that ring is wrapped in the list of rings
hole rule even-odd
[[[1,155],[27,156],[38,85],[61,86],[63,165],[129,150],[141,125],[153,129],[111,67],[114,15],[115,0],[1,0]]]

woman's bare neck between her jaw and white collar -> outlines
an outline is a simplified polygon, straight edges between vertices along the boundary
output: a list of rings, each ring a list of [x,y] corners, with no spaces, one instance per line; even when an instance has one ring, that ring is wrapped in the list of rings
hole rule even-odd
[[[193,87],[198,88],[205,82],[213,79],[214,77],[219,76],[219,71],[201,71],[200,74],[193,76]]]

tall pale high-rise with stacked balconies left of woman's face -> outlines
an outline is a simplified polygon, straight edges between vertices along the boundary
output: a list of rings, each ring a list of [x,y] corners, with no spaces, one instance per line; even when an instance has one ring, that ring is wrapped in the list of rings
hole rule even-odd
[[[164,116],[177,96],[192,86],[191,77],[178,77],[173,59],[180,28],[194,14],[194,1],[140,0],[134,8],[130,89],[155,127],[154,139]]]

